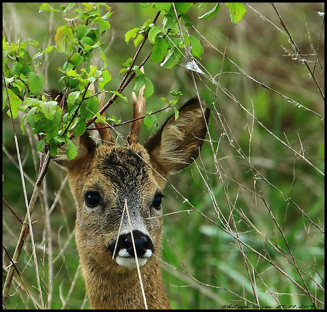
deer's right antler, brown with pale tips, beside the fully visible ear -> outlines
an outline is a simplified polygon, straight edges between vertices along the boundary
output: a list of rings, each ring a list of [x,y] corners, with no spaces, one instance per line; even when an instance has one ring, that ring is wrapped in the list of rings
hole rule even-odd
[[[143,66],[141,67],[142,73],[144,73]],[[133,119],[141,117],[145,112],[145,98],[143,97],[145,85],[143,85],[138,91],[138,99],[136,99],[135,92],[132,92],[133,101]],[[138,142],[139,131],[141,130],[142,119],[137,119],[132,121],[131,132],[127,137],[127,142],[129,145]]]

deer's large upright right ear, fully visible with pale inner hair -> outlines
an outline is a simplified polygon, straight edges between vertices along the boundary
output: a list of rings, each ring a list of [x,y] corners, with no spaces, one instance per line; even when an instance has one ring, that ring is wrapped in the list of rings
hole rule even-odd
[[[161,129],[144,143],[151,161],[162,173],[177,173],[198,157],[209,114],[209,108],[195,97],[180,108],[177,120],[174,115],[168,118]]]

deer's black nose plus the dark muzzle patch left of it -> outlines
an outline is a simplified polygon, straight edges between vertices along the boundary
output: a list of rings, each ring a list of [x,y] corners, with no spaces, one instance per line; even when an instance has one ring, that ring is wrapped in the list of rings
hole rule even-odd
[[[134,238],[136,254],[138,257],[143,256],[147,252],[147,250],[151,250],[152,252],[154,252],[154,246],[148,235],[142,233],[141,231],[134,230],[133,238]],[[111,244],[108,247],[111,253],[113,253],[114,246],[115,243]],[[135,257],[131,233],[119,236],[115,256],[118,255],[121,249],[126,249],[126,251],[129,253],[131,257]]]

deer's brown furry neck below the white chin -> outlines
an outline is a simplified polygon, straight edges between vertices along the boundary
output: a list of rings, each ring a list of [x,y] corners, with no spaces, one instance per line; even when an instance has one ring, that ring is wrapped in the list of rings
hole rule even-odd
[[[144,309],[141,283],[137,270],[103,270],[99,266],[85,266],[82,273],[91,309]],[[149,309],[171,309],[161,280],[158,259],[149,259],[140,268],[147,306]],[[113,273],[114,271],[114,273]]]

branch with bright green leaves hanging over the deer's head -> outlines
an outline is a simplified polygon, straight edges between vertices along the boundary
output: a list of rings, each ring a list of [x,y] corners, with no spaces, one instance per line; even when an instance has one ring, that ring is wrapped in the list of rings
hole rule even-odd
[[[149,4],[140,3],[142,7]],[[39,12],[54,12],[62,15],[65,25],[58,27],[54,36],[55,45],[48,45],[44,50],[36,40],[28,39],[16,42],[7,42],[5,33],[3,34],[3,92],[6,97],[3,101],[3,110],[8,106],[7,114],[12,121],[18,117],[19,111],[23,112],[20,129],[24,135],[25,121],[32,128],[32,133],[39,136],[37,149],[41,152],[41,162],[39,165],[39,174],[35,183],[34,191],[30,202],[27,202],[27,214],[20,236],[16,245],[13,263],[18,261],[25,239],[32,229],[31,214],[35,206],[38,192],[42,184],[44,175],[48,169],[51,157],[60,152],[60,146],[67,146],[66,155],[69,160],[77,156],[77,148],[72,138],[82,135],[90,124],[95,121],[103,122],[101,114],[114,102],[118,97],[127,102],[122,92],[126,86],[134,79],[134,91],[139,90],[146,85],[144,96],[150,97],[154,92],[152,82],[142,73],[140,68],[148,61],[160,63],[160,66],[172,68],[175,66],[182,54],[181,49],[190,47],[191,54],[194,57],[201,58],[204,51],[200,40],[195,36],[188,35],[181,30],[179,20],[185,21],[185,28],[192,26],[190,17],[187,12],[192,8],[193,3],[152,3],[151,6],[156,10],[155,17],[147,20],[142,27],[134,28],[125,35],[125,40],[138,36],[134,40],[135,47],[138,46],[134,57],[128,59],[121,73],[125,72],[116,91],[105,106],[99,110],[99,100],[89,90],[91,84],[97,84],[99,91],[97,94],[105,92],[106,85],[111,81],[108,62],[102,51],[102,37],[110,29],[110,23],[107,21],[113,14],[111,8],[106,4],[83,3],[83,8],[76,8],[76,16],[68,18],[67,14],[75,7],[75,3],[69,3],[67,6],[61,5],[60,9],[54,9],[49,4],[43,3],[39,6]],[[228,4],[227,4],[228,5]],[[230,4],[229,4],[230,5]],[[239,7],[243,4],[234,4],[229,6],[231,17],[238,18],[231,20],[239,21],[245,11],[240,13]],[[206,4],[201,4],[202,8]],[[200,19],[213,18],[219,11],[220,5],[216,4],[214,9],[200,16]],[[101,11],[105,11],[104,14]],[[243,15],[242,15],[243,14]],[[163,16],[162,26],[157,26],[159,16]],[[135,65],[139,53],[144,49],[146,41],[149,41],[152,50],[145,59]],[[36,50],[34,55],[29,51]],[[103,60],[103,65],[91,66],[91,59],[94,51],[99,51]],[[62,77],[59,79],[61,92],[42,91],[45,78],[38,74],[38,67],[42,64],[46,54],[60,53],[66,56],[66,61],[59,68]],[[144,125],[151,129],[157,125],[156,113],[173,107],[175,118],[178,118],[178,110],[175,104],[181,97],[180,92],[172,91],[173,100],[168,101],[162,98],[162,101],[168,105],[155,112],[147,112],[146,115],[137,119],[144,118]],[[98,111],[99,110],[99,111]],[[110,118],[108,119],[110,121]],[[121,126],[132,122],[127,121],[117,123],[117,118],[112,116],[111,121],[115,124],[113,127]],[[135,120],[135,119],[134,119]],[[98,129],[98,128],[94,128]],[[18,144],[17,144],[18,146]],[[26,198],[27,200],[27,198]],[[33,245],[34,246],[34,245]],[[33,251],[34,261],[36,262],[35,248]],[[35,263],[37,267],[37,263]],[[4,285],[3,302],[8,297],[9,288],[13,278],[16,266],[12,265],[8,269],[7,278]],[[39,293],[42,302],[42,294]],[[43,302],[42,302],[43,306]]]

